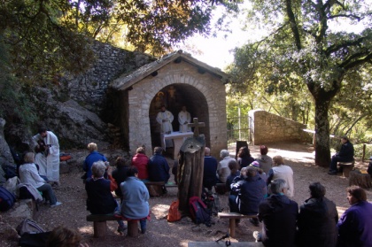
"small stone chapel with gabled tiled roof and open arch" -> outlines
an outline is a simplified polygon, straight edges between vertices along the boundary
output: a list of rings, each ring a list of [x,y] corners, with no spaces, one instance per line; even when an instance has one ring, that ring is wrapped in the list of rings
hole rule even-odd
[[[119,119],[124,146],[132,153],[145,146],[151,156],[160,146],[160,127],[156,121],[162,104],[174,115],[174,131],[182,106],[187,107],[191,120],[198,118],[205,127],[205,144],[212,155],[219,158],[221,149],[227,149],[227,119],[225,84],[229,77],[219,68],[208,66],[182,50],[170,53],[144,65],[132,73],[122,74],[112,81],[110,88],[117,97],[116,118]]]

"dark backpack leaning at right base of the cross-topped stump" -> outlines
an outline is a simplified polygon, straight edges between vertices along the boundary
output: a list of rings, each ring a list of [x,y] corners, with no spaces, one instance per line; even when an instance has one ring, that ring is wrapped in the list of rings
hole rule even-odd
[[[199,197],[190,197],[189,208],[191,219],[195,223],[204,223],[205,226],[211,227],[211,212]]]

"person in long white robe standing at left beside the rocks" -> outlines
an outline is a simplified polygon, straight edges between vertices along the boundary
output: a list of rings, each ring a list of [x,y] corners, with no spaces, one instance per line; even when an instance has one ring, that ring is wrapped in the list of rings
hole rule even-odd
[[[35,157],[35,163],[39,166],[39,173],[48,178],[53,186],[59,185],[59,143],[57,135],[48,131],[46,127],[40,127],[38,134],[32,138],[36,149],[44,145],[44,151]]]

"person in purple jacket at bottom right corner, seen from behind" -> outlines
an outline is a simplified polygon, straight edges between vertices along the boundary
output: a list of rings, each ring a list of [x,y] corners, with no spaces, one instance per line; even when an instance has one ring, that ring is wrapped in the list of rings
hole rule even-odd
[[[351,205],[337,222],[337,247],[372,246],[372,204],[368,203],[366,191],[359,186],[346,189]]]

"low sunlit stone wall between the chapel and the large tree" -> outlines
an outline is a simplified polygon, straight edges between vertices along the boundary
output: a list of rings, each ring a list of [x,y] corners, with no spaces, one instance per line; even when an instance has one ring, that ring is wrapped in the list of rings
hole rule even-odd
[[[252,119],[254,145],[285,141],[311,142],[311,136],[303,131],[305,124],[262,110],[250,111],[249,116]]]

